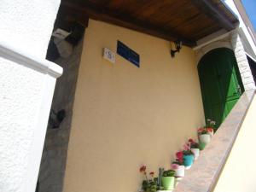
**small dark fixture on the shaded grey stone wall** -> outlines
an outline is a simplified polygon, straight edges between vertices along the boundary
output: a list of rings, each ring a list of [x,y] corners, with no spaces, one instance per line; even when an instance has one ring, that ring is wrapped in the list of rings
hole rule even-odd
[[[66,117],[66,111],[61,109],[57,113],[51,109],[49,113],[49,127],[51,129],[57,129],[60,127],[62,120]]]

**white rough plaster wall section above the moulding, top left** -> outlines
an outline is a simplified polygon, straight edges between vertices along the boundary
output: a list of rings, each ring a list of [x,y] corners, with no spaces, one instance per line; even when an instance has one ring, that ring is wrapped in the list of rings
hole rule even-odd
[[[0,43],[45,57],[61,0],[1,0]]]

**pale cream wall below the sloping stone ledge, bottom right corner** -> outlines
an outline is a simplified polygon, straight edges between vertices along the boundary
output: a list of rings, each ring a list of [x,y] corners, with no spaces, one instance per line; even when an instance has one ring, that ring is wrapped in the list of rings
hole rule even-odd
[[[223,172],[218,178],[214,192],[255,192],[256,191],[256,97],[247,111],[241,130],[231,150]]]

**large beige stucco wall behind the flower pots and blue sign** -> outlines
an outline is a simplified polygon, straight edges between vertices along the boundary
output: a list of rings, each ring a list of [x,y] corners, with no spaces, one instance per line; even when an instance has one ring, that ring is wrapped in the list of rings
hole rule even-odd
[[[102,48],[117,40],[137,51],[141,67]],[[204,123],[195,52],[183,46],[172,59],[170,43],[90,20],[84,38],[65,192],[135,192],[145,164],[168,168],[177,149]]]

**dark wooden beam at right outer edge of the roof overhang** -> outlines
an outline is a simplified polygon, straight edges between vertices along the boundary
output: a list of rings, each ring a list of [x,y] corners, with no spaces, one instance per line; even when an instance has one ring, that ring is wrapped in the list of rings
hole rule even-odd
[[[218,22],[218,24],[227,31],[231,31],[236,28],[236,24],[232,23],[223,14],[223,11],[218,9],[210,0],[191,0],[191,3],[193,3],[197,9],[200,9],[201,12],[209,18]]]

